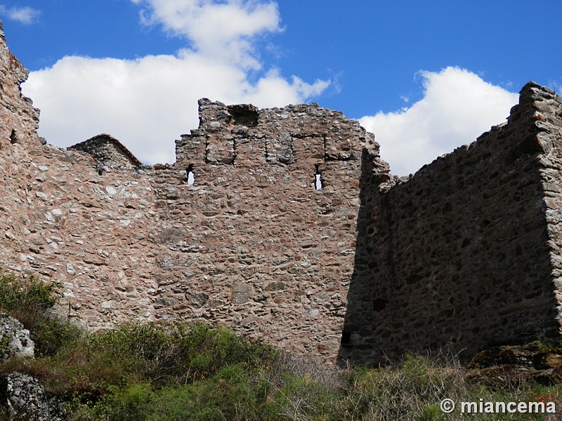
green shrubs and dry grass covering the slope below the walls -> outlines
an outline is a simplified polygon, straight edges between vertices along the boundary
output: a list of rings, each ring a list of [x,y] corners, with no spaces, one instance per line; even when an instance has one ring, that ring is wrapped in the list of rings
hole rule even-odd
[[[470,377],[458,363],[338,370],[204,324],[137,324],[86,333],[53,312],[58,288],[0,276],[1,311],[30,329],[35,359],[12,357],[0,375],[37,377],[70,420],[463,420],[440,402],[552,401],[561,387],[506,376]],[[473,378],[473,380],[469,380]],[[477,380],[476,380],[477,379]],[[540,399],[537,396],[542,396]],[[479,413],[478,420],[546,414]]]

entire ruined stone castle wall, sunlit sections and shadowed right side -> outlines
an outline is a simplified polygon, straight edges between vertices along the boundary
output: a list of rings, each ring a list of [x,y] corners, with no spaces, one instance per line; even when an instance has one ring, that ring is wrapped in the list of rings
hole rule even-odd
[[[99,171],[41,145],[4,36],[0,72],[0,268],[60,283],[87,328],[206,320],[370,363],[560,338],[562,107],[546,88],[409,180],[340,112],[205,99],[174,165]]]

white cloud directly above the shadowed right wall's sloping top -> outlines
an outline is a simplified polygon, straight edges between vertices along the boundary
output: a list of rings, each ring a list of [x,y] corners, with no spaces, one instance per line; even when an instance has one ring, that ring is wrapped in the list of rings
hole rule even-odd
[[[467,145],[503,123],[518,95],[459,67],[420,72],[424,98],[399,112],[379,112],[359,121],[375,134],[391,173],[407,175],[437,156]]]

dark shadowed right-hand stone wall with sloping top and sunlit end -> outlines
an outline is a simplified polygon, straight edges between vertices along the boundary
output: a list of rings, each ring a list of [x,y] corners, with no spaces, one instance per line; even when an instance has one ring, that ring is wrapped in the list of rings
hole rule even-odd
[[[530,83],[473,144],[388,189],[368,178],[341,358],[559,338],[561,109]]]

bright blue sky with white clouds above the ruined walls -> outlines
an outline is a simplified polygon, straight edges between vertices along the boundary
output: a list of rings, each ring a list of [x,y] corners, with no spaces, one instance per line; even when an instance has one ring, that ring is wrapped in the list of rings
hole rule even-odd
[[[197,99],[318,102],[413,173],[502,123],[529,80],[562,87],[562,1],[0,0],[39,133],[98,133],[173,162]]]

